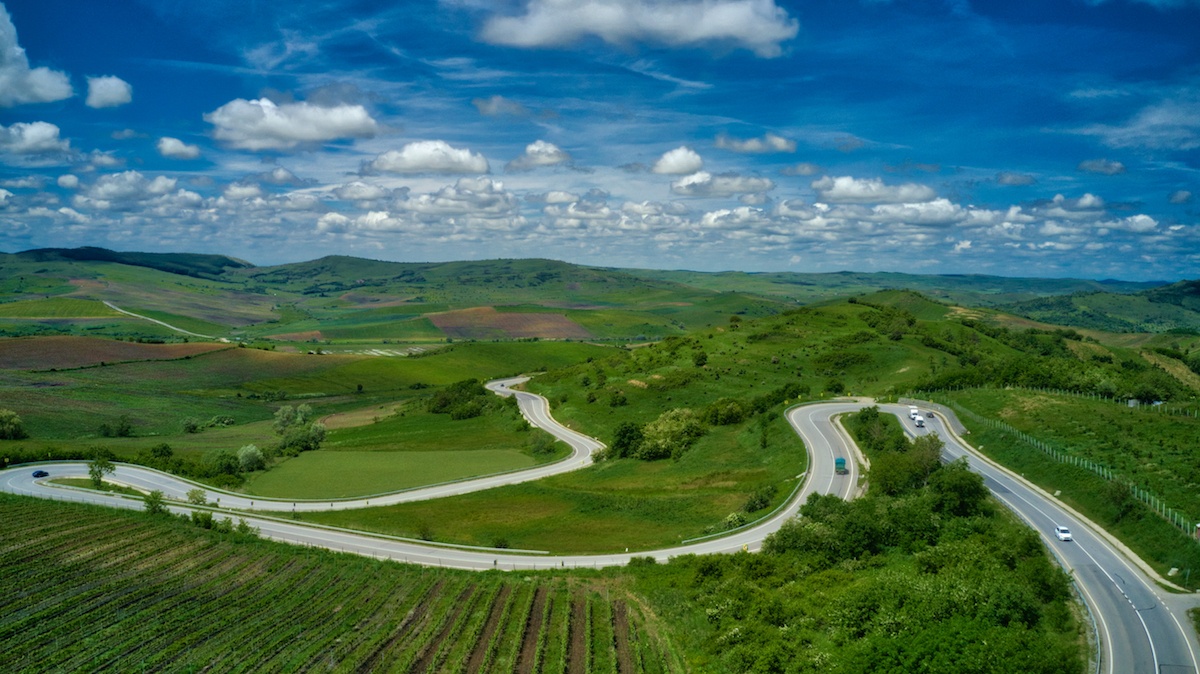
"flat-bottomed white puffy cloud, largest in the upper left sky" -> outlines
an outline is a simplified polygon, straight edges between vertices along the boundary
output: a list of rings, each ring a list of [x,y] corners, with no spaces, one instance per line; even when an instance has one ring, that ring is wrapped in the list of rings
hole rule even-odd
[[[204,115],[212,134],[241,150],[290,150],[301,144],[370,138],[378,125],[362,106],[276,104],[236,98]]]

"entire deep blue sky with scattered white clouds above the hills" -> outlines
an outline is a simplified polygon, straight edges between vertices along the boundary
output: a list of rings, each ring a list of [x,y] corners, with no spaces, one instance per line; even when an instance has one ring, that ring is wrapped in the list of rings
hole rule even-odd
[[[1198,0],[6,0],[0,251],[1200,277]]]

